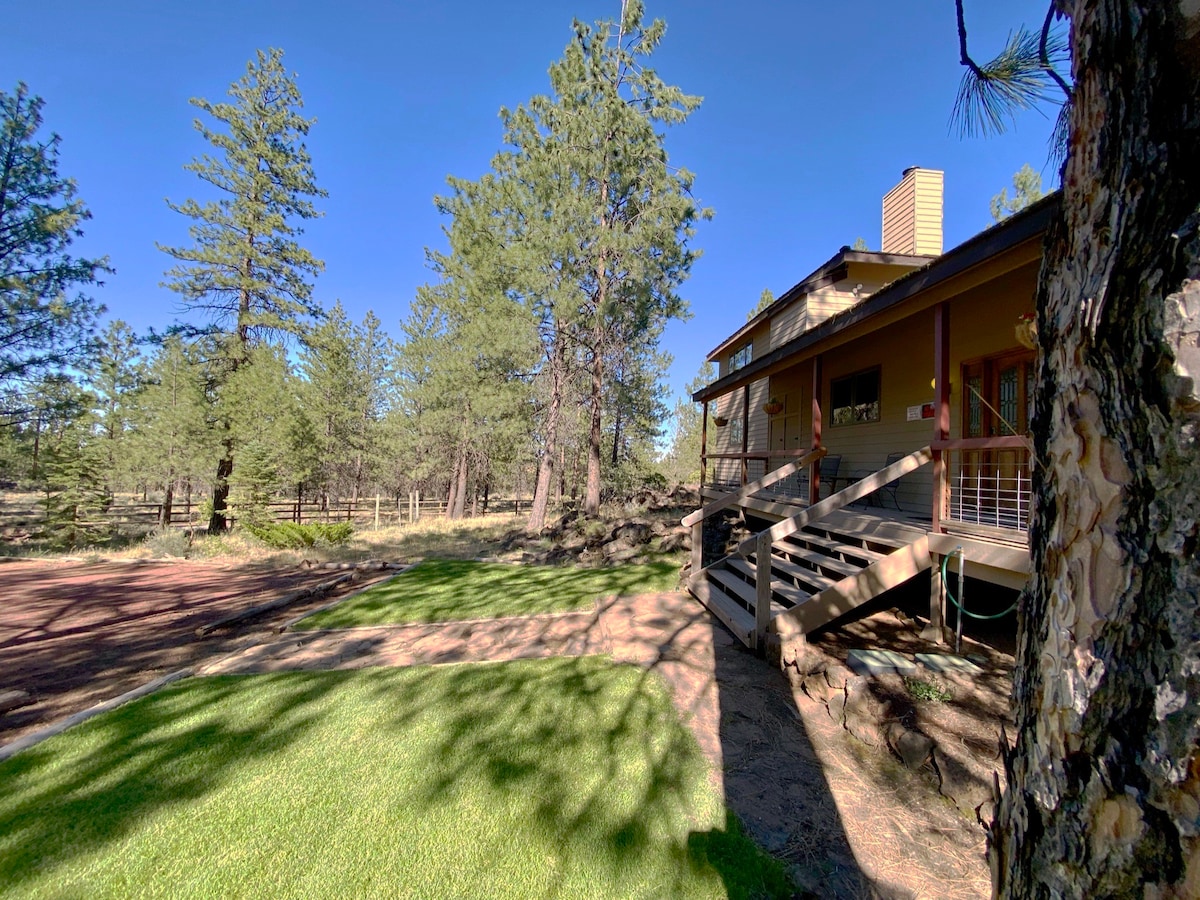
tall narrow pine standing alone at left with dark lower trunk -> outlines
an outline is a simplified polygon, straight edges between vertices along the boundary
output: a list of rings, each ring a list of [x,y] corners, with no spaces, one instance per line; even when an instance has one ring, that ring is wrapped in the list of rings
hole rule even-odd
[[[221,347],[233,373],[250,359],[256,341],[299,335],[319,317],[311,280],[324,265],[300,246],[298,222],[320,215],[312,198],[325,192],[317,187],[304,144],[313,120],[300,114],[304,102],[294,76],[283,68],[282,50],[259,50],[229,96],[230,103],[191,101],[224,128],[198,120],[197,131],[218,155],[185,167],[216,188],[217,199],[170,204],[193,220],[192,245],[160,250],[179,260],[167,272],[167,287],[226,337]],[[227,433],[212,492],[214,532],[226,524],[234,444]]]

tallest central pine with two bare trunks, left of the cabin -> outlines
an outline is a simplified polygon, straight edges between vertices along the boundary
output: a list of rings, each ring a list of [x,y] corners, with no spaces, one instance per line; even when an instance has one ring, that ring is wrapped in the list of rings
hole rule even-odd
[[[700,98],[646,65],[666,24],[644,24],[638,0],[622,12],[620,23],[595,29],[576,22],[574,40],[551,66],[552,94],[502,110],[512,150],[493,168],[518,206],[510,230],[534,276],[523,288],[541,322],[552,380],[530,528],[545,521],[575,350],[588,376],[584,511],[595,514],[613,331],[686,314],[676,288],[696,258],[688,247],[694,226],[710,215],[691,197],[691,173],[668,164],[661,132],[685,121]]]

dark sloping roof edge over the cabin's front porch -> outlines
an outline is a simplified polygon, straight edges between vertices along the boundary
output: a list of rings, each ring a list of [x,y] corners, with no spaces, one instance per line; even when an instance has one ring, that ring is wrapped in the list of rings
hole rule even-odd
[[[936,257],[922,268],[902,275],[890,284],[871,294],[862,302],[854,304],[848,310],[842,310],[835,316],[830,316],[810,331],[805,331],[787,343],[776,347],[767,355],[760,356],[724,378],[718,378],[707,388],[702,388],[692,394],[691,398],[696,402],[708,401],[713,397],[727,394],[734,388],[740,388],[744,384],[757,382],[758,379],[770,374],[769,370],[774,370],[780,362],[787,360],[790,356],[812,349],[816,344],[822,343],[851,325],[857,325],[858,323],[870,319],[874,316],[878,316],[886,310],[890,310],[910,301],[937,284],[960,275],[967,269],[971,269],[991,257],[1004,253],[1006,251],[1013,250],[1014,247],[1039,236],[1045,232],[1050,222],[1058,215],[1061,199],[1062,196],[1058,191],[1048,194],[1020,212],[1009,216],[1003,222],[980,232],[973,238],[968,238],[962,244],[954,247],[954,250]],[[834,260],[840,257],[841,253],[835,256]],[[834,260],[830,260],[830,263]],[[826,264],[826,266],[828,265],[829,263]],[[817,271],[822,271],[826,266],[822,266],[822,269]],[[798,284],[797,288],[803,284],[804,282]],[[793,288],[792,290],[796,290],[797,288]],[[788,292],[788,294],[791,293],[792,292]],[[788,294],[785,294],[784,296],[786,298]],[[780,298],[780,301],[782,299],[784,298]],[[773,304],[761,314],[766,314],[775,305]],[[751,319],[751,323],[752,322],[755,322],[755,319]],[[748,326],[749,324],[750,323],[748,323]]]

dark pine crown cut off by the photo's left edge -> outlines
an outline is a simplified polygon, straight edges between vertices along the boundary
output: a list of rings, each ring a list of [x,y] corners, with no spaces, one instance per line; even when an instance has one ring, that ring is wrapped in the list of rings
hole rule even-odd
[[[59,175],[59,136],[37,138],[42,106],[24,84],[0,91],[0,424],[22,418],[25,386],[86,360],[103,307],[72,292],[112,271],[67,252],[91,214]]]

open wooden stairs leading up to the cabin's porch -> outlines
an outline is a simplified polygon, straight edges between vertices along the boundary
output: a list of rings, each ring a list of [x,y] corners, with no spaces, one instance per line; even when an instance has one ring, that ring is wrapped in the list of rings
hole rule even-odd
[[[836,511],[775,541],[770,553],[770,625],[809,632],[930,568],[923,529]],[[758,560],[725,559],[689,582],[691,593],[745,643],[758,644]]]

